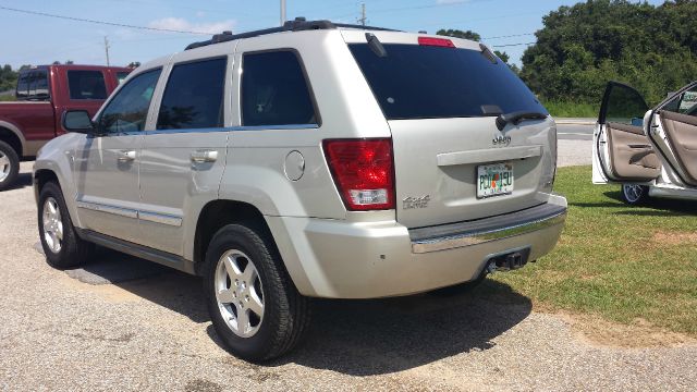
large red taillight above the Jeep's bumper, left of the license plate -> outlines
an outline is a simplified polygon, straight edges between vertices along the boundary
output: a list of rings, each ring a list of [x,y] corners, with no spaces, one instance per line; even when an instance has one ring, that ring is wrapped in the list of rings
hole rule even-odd
[[[325,140],[325,156],[346,209],[394,208],[392,140]]]

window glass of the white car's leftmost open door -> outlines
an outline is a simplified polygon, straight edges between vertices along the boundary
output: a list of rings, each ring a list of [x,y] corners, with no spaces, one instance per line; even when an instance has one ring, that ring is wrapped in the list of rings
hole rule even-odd
[[[641,126],[644,114],[649,110],[644,98],[634,88],[612,84],[610,95],[606,97],[604,120],[627,125]],[[606,93],[607,94],[607,93]]]

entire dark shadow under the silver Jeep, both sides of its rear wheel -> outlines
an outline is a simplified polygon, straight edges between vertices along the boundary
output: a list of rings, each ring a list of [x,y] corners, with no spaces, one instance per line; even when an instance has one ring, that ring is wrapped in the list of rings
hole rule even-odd
[[[84,270],[194,322],[210,320],[199,278],[106,249]],[[412,369],[493,347],[493,339],[527,318],[533,308],[529,298],[492,280],[452,296],[311,302],[304,343],[266,366],[295,363],[352,376]],[[207,333],[224,350],[212,324]]]

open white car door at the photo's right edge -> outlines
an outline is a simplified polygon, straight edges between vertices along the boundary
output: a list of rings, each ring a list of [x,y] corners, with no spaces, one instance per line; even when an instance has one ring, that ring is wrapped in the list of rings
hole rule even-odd
[[[661,102],[651,113],[648,128],[664,158],[670,182],[697,187],[697,82]]]

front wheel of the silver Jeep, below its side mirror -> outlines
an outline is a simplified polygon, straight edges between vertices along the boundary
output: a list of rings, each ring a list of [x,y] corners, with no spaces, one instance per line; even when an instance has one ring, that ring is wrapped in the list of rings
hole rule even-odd
[[[46,261],[53,268],[66,269],[85,264],[94,244],[77,236],[68,213],[63,193],[58,184],[49,182],[39,193],[39,237]]]

